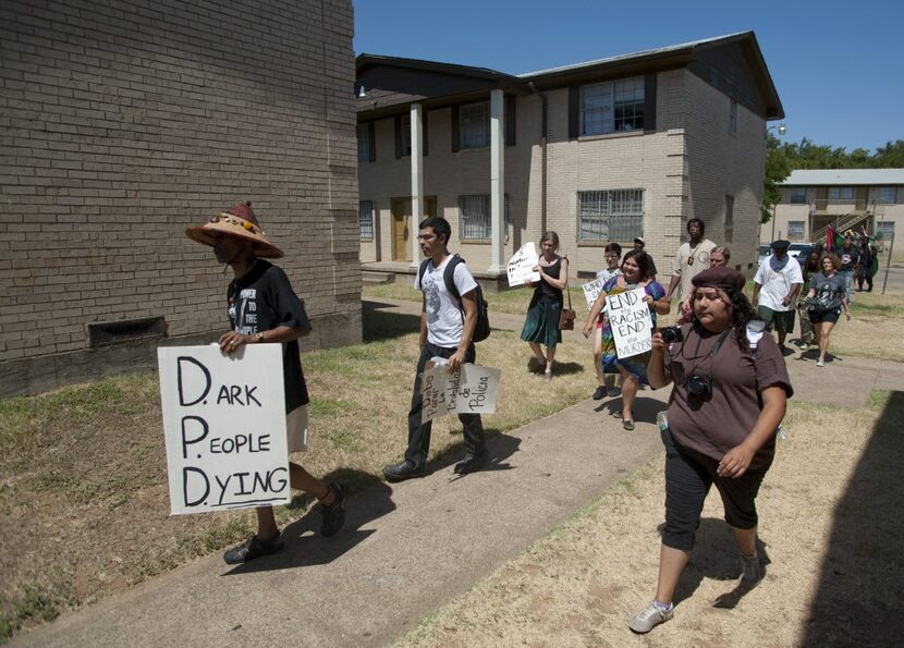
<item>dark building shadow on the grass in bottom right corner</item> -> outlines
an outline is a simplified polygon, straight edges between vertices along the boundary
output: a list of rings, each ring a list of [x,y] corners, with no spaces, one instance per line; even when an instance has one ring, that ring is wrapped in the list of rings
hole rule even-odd
[[[826,431],[844,433],[842,429]],[[894,391],[835,509],[802,646],[893,646],[901,641],[902,457],[904,392]],[[801,506],[806,508],[806,502]]]

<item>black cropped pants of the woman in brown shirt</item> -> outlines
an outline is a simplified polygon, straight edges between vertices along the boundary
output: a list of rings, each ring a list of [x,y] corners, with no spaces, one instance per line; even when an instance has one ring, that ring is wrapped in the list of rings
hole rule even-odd
[[[665,445],[665,527],[662,543],[691,551],[706,496],[714,484],[722,496],[725,522],[740,529],[757,525],[756,497],[771,460],[759,470],[747,469],[736,479],[717,474],[719,462],[675,443],[669,430],[660,431]]]

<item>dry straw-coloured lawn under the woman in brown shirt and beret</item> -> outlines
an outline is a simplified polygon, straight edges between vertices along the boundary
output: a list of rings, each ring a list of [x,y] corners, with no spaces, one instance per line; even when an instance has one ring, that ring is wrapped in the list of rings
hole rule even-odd
[[[904,583],[889,515],[902,494],[904,393],[865,408],[792,403],[758,508],[769,564],[733,609],[737,575],[718,496],[704,510],[674,620],[643,639],[627,619],[655,592],[663,461],[652,460],[404,637],[401,646],[892,645]],[[882,620],[885,622],[882,623]]]

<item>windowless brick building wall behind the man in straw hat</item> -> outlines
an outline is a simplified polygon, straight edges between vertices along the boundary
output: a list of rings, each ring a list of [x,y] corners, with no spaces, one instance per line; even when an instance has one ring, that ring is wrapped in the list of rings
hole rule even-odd
[[[286,253],[305,345],[361,340],[350,0],[0,15],[0,393],[211,341],[228,278],[184,231],[244,199]]]

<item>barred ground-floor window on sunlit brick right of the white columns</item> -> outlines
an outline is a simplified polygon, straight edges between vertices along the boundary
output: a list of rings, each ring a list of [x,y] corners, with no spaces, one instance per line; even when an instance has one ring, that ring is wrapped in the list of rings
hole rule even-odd
[[[644,189],[577,192],[578,241],[633,241],[644,235]]]

